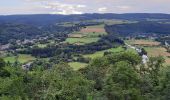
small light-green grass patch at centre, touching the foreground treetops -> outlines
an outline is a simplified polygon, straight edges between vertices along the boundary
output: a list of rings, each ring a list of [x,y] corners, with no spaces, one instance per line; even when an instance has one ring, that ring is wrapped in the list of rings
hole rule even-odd
[[[74,70],[79,70],[81,68],[84,68],[87,66],[86,63],[80,63],[80,62],[70,62],[68,63],[70,67],[72,67]]]

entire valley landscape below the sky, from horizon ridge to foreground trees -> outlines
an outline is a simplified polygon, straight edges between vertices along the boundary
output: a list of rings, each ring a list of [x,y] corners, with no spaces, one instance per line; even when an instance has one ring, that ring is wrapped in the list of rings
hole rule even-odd
[[[169,100],[169,73],[168,14],[0,16],[0,100]]]

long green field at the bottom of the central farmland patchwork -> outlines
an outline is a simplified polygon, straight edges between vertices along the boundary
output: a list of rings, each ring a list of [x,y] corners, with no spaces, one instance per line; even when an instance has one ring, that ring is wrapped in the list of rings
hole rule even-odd
[[[92,42],[97,42],[100,38],[96,37],[96,38],[87,38],[87,37],[83,37],[83,38],[67,38],[66,42],[70,43],[70,44],[75,44],[75,43],[79,43],[79,44],[88,44],[88,43],[92,43]]]

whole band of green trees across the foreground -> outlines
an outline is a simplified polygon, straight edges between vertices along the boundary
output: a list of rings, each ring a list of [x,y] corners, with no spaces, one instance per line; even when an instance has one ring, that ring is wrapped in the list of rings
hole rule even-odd
[[[94,59],[79,71],[66,63],[44,69],[43,62],[24,71],[1,59],[0,99],[169,100],[170,68],[163,62],[157,57],[142,65],[137,54],[122,52]]]

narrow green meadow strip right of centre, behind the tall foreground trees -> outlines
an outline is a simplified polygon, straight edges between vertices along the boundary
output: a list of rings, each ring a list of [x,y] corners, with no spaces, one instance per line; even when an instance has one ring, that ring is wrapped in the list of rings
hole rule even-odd
[[[121,51],[124,51],[124,49],[122,47],[118,47],[118,48],[111,48],[111,49],[108,49],[108,50],[103,50],[103,51],[98,51],[98,52],[95,52],[94,54],[87,54],[87,55],[84,55],[85,58],[91,58],[91,59],[94,59],[94,58],[97,58],[97,57],[102,57],[104,55],[104,52],[121,52]]]

